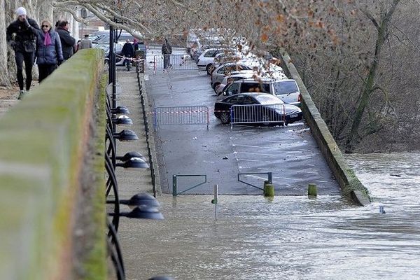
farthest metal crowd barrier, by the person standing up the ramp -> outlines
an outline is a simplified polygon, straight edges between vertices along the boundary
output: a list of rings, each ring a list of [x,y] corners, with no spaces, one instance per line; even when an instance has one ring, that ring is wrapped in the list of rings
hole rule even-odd
[[[171,70],[197,70],[197,64],[189,55],[154,55],[153,74],[158,70],[164,69],[164,60],[167,59],[167,69]]]

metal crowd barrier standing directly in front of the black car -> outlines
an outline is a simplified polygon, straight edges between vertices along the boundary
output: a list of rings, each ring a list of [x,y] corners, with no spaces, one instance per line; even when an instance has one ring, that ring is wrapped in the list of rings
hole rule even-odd
[[[286,122],[284,105],[233,105],[230,107],[230,125],[254,124],[269,125]]]

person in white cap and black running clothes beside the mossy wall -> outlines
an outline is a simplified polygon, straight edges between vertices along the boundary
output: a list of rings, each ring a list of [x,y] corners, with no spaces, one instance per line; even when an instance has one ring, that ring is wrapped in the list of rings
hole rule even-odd
[[[8,45],[15,50],[15,62],[17,70],[18,84],[20,88],[18,99],[22,99],[25,89],[29,90],[32,82],[32,65],[35,59],[35,39],[36,31],[39,30],[35,20],[27,18],[25,8],[20,7],[16,10],[18,20],[10,23],[6,29],[6,39]],[[13,38],[13,34],[15,37]],[[23,84],[23,63],[25,62],[26,87]]]

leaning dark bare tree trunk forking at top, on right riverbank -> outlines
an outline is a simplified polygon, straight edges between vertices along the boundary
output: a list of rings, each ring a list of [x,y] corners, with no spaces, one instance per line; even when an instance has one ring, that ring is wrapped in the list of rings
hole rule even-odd
[[[388,26],[391,25],[392,15],[395,12],[395,8],[398,6],[398,3],[400,3],[400,0],[393,0],[391,8],[389,8],[389,10],[384,10],[381,13],[379,24],[370,13],[364,11],[367,18],[372,21],[374,27],[377,29],[377,41],[375,43],[373,62],[370,64],[369,73],[367,74],[363,92],[361,93],[360,101],[356,108],[356,113],[351,125],[351,131],[346,139],[346,153],[352,153],[357,144],[360,143],[361,138],[358,134],[358,130],[363,118],[363,113],[365,112],[366,106],[369,104],[370,94],[374,91],[375,78],[377,76],[379,59],[381,57],[381,49],[388,38]]]

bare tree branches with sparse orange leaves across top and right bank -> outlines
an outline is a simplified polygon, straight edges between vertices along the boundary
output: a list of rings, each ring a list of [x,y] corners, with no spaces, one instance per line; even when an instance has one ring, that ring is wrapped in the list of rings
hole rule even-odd
[[[419,1],[18,2],[30,6],[36,17],[52,3],[54,15],[70,13],[80,21],[78,9],[85,7],[107,24],[142,34],[147,41],[185,35],[190,29],[218,29],[246,38],[254,50],[286,49],[346,151],[420,148],[415,140],[420,138]]]

